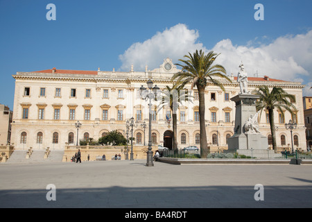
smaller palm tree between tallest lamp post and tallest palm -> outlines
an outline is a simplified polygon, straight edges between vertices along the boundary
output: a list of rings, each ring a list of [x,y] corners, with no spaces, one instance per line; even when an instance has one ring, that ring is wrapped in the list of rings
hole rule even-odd
[[[191,102],[190,96],[186,93],[184,89],[184,84],[177,85],[173,84],[173,87],[166,85],[164,95],[162,96],[162,101],[160,101],[158,108],[161,110],[166,105],[168,105],[172,112],[172,124],[173,124],[173,151],[177,151],[177,108],[179,103],[182,104],[183,101]],[[159,111],[158,110],[158,111]]]

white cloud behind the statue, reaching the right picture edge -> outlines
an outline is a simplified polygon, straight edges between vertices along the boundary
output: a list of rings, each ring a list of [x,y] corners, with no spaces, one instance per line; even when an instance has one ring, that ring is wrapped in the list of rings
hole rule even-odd
[[[250,45],[250,42],[248,43]],[[234,46],[232,41],[222,40],[212,49],[221,55],[218,63],[228,72],[237,73],[243,61],[246,71],[253,76],[270,76],[281,80],[293,80],[297,74],[309,75],[312,66],[312,31],[295,37],[279,37],[268,45]]]

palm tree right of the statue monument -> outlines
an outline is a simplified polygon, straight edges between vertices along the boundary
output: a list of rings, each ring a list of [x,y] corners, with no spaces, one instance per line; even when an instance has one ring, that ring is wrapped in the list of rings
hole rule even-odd
[[[270,130],[272,135],[272,146],[275,150],[277,145],[275,135],[274,109],[277,108],[277,110],[279,110],[279,112],[281,113],[281,118],[283,119],[283,108],[285,110],[288,110],[288,112],[291,112],[291,114],[293,115],[293,110],[296,110],[295,105],[293,105],[293,103],[295,103],[296,101],[295,96],[288,94],[284,91],[284,89],[281,89],[280,87],[273,87],[272,91],[270,92],[267,85],[261,85],[260,87],[255,89],[253,93],[260,96],[259,100],[256,103],[257,111],[261,110],[262,112],[263,109],[268,110]]]

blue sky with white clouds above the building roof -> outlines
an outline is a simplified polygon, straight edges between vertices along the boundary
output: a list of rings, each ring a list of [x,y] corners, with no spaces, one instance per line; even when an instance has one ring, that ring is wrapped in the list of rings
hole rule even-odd
[[[46,19],[49,3],[55,21]],[[254,19],[256,3],[264,6],[263,21]],[[228,72],[243,60],[250,75],[311,86],[311,10],[311,0],[0,0],[0,103],[13,110],[17,71],[154,69],[200,46],[220,52]]]

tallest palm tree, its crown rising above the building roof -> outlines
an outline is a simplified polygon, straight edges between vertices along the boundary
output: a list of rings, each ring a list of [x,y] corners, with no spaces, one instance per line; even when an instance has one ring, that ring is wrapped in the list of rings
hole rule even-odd
[[[213,65],[214,61],[220,54],[210,51],[205,53],[200,50],[196,50],[193,55],[185,55],[186,60],[179,60],[183,62],[182,70],[173,75],[172,80],[177,80],[177,83],[191,83],[191,89],[196,85],[199,95],[199,116],[200,116],[200,157],[207,157],[207,135],[205,127],[205,88],[211,83],[217,85],[223,91],[225,91],[223,84],[220,82],[220,78],[225,78],[230,83],[230,80],[226,76],[225,68],[222,65]]]

